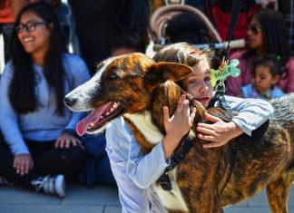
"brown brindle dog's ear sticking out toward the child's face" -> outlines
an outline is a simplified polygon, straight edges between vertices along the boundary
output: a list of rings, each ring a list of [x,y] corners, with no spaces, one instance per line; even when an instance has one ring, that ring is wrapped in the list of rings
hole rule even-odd
[[[191,67],[181,63],[153,63],[145,73],[144,81],[156,86],[168,80],[179,81],[190,73]]]

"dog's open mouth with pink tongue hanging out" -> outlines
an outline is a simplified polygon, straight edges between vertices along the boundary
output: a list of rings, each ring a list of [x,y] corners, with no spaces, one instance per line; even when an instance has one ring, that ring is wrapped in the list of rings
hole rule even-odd
[[[76,132],[82,136],[86,131],[93,132],[103,126],[103,123],[113,119],[122,110],[120,102],[106,102],[93,110],[86,118],[76,124]]]

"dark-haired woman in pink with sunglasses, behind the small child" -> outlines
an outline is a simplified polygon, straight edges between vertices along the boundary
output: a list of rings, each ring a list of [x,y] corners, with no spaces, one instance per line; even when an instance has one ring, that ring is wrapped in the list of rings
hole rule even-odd
[[[240,88],[250,83],[253,59],[261,54],[274,54],[282,73],[276,85],[285,93],[294,92],[294,59],[289,57],[287,28],[283,15],[273,9],[262,9],[254,14],[246,27],[247,49],[231,55],[240,61],[238,77],[227,81],[227,93],[238,96]]]

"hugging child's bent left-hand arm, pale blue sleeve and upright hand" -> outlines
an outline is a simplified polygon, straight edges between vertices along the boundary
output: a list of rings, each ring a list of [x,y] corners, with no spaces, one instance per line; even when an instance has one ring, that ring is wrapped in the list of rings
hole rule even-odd
[[[181,96],[177,110],[171,119],[168,109],[163,108],[166,136],[147,155],[142,154],[140,145],[132,136],[126,169],[138,187],[145,189],[151,186],[169,166],[171,153],[176,149],[181,138],[191,129],[195,111],[193,109],[190,115],[189,102],[185,102],[184,95]]]

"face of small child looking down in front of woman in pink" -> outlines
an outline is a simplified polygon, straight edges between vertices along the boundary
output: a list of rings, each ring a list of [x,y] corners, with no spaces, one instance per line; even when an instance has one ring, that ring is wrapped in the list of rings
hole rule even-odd
[[[257,92],[263,94],[279,81],[279,76],[272,76],[267,66],[257,66],[252,75],[252,84]]]

